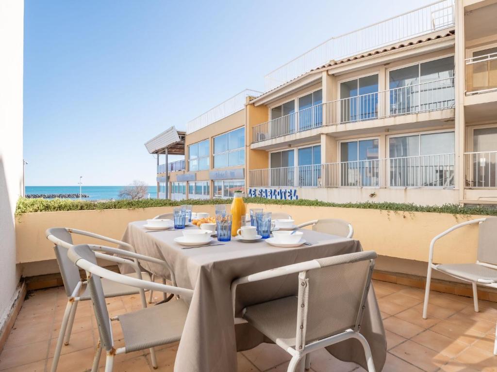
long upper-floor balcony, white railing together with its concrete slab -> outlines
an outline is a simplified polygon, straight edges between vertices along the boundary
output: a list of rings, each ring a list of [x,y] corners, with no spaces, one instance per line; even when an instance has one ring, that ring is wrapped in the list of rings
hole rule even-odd
[[[454,118],[453,73],[446,78],[400,85],[403,86],[319,103],[255,125],[250,147],[271,149],[318,139],[322,133],[346,135],[381,127],[429,127]]]

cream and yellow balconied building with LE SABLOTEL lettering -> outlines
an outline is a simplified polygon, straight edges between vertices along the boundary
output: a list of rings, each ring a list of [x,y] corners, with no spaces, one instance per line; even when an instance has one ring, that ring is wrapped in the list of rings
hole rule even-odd
[[[187,133],[182,196],[497,203],[496,14],[493,0],[439,1],[274,70],[244,109]],[[216,139],[237,125],[243,166],[229,163],[242,147]],[[216,180],[228,169],[243,181]]]

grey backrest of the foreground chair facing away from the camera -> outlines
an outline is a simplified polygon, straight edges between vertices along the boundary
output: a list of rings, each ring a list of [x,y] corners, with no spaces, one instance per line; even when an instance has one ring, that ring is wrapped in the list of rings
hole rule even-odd
[[[376,252],[320,258],[319,268],[299,274],[296,348],[358,330],[366,303]]]

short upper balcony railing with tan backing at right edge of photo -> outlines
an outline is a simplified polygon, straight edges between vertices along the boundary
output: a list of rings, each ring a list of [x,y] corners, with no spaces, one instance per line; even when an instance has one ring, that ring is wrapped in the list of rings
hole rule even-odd
[[[469,94],[497,89],[497,53],[466,60],[466,92]]]

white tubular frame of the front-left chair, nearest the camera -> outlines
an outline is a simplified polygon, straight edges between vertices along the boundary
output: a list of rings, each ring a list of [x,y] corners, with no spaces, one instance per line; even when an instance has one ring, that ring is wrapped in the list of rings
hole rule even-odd
[[[88,245],[91,249],[91,246]],[[116,249],[116,248],[113,248]],[[96,255],[97,252],[95,252]],[[136,254],[136,253],[135,253]],[[191,298],[193,296],[193,290],[180,288],[175,286],[170,286],[166,284],[160,284],[155,282],[149,282],[148,280],[136,279],[123,274],[119,274],[108,269],[105,269],[101,266],[95,265],[94,263],[89,262],[83,257],[79,256],[74,248],[70,248],[68,251],[68,257],[71,259],[78,267],[86,271],[87,279],[92,275],[98,275],[101,278],[111,280],[113,282],[117,282],[120,284],[125,284],[130,287],[135,287],[140,289],[141,291],[149,290],[149,291],[159,291],[163,293],[172,293],[176,296],[184,296],[187,298]],[[151,258],[151,257],[148,257]],[[153,258],[155,260],[155,258]],[[160,260],[159,260],[160,261]],[[114,316],[110,318],[110,321],[119,320],[119,316]],[[106,351],[106,360],[105,360],[105,372],[111,372],[114,365],[114,357],[116,355],[121,355],[126,353],[126,347],[114,348],[114,339],[111,332],[112,339],[112,349],[110,351]],[[154,349],[150,349],[151,351]],[[91,372],[98,371],[98,364],[100,363],[100,356],[102,353],[102,344],[101,341],[98,341],[97,349],[95,351],[95,358],[93,360],[93,365],[91,368]],[[155,354],[151,353],[152,366],[154,369],[157,368],[157,359]]]

